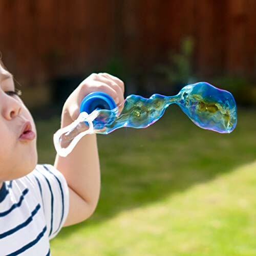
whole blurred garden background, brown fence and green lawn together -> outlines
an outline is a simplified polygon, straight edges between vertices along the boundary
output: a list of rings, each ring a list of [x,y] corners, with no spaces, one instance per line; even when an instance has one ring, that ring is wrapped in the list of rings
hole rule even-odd
[[[230,91],[230,134],[171,105],[146,129],[97,135],[94,215],[62,228],[52,255],[256,254],[256,1],[1,0],[0,51],[54,163],[63,103],[91,73],[125,94],[175,95],[205,81]]]

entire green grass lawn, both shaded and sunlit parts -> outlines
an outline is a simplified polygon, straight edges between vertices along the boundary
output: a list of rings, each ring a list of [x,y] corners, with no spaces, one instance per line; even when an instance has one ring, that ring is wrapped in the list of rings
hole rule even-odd
[[[53,164],[60,116],[35,122],[38,163]],[[236,129],[220,134],[173,105],[97,141],[97,209],[61,229],[52,255],[256,255],[255,109],[238,108]]]

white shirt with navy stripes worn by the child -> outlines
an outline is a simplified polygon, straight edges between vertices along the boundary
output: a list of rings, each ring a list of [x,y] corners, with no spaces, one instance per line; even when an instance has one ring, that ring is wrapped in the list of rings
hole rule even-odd
[[[0,255],[51,255],[49,240],[65,223],[69,189],[51,164],[0,188]]]

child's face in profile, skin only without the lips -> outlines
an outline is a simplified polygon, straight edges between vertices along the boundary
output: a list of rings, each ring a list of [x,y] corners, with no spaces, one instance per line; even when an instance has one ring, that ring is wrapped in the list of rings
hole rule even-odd
[[[18,139],[25,122],[31,122],[35,134],[36,127],[22,99],[6,93],[14,91],[10,75],[0,63],[0,182],[23,177],[37,164],[37,137],[27,141]]]

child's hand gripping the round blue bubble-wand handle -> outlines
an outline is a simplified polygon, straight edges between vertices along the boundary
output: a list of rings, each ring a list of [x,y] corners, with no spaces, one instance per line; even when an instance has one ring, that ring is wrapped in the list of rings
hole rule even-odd
[[[124,101],[122,80],[108,73],[93,73],[79,84],[63,105],[61,119],[64,123],[69,124],[77,119],[83,98],[92,92],[109,94],[117,105]]]

